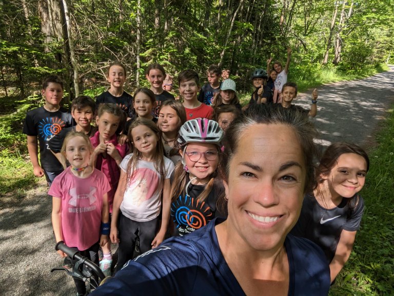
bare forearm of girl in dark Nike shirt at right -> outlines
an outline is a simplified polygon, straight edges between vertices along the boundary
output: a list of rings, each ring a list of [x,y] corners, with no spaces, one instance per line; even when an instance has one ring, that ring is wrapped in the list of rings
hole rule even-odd
[[[353,248],[354,239],[357,231],[342,230],[334,258],[330,262],[331,283],[342,270],[346,261],[349,259],[351,249]]]

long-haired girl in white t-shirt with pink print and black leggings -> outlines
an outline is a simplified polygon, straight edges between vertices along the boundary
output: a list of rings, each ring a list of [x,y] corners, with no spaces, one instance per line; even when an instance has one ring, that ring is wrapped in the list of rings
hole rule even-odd
[[[137,239],[141,253],[159,246],[170,219],[170,176],[174,165],[164,156],[159,128],[151,120],[137,117],[128,136],[133,153],[121,163],[110,233],[112,243],[119,243],[117,271],[132,259]],[[160,214],[162,221],[156,232]]]

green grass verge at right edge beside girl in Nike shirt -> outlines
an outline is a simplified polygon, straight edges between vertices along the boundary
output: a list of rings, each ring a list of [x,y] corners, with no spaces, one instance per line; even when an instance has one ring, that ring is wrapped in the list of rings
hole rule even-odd
[[[330,296],[394,295],[394,105],[369,151],[365,211],[353,252]]]

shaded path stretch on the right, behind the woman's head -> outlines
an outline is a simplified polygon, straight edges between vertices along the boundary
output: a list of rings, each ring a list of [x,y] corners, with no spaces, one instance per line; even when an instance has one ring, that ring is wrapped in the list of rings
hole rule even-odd
[[[318,114],[312,121],[322,145],[353,142],[367,148],[375,141],[379,121],[394,102],[394,66],[388,72],[324,85],[318,91]],[[300,93],[294,103],[309,109],[311,92]]]

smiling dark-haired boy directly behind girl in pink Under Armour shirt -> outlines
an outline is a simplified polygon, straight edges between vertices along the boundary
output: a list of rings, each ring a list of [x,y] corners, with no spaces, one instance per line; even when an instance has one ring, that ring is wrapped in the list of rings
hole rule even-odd
[[[74,100],[72,100],[71,116],[74,119],[76,125],[63,129],[60,133],[55,135],[48,143],[49,149],[53,152],[53,154],[56,156],[57,160],[60,163],[62,163],[63,161],[60,151],[63,146],[64,138],[69,131],[80,131],[85,133],[89,137],[94,135],[94,133],[97,131],[97,128],[91,125],[94,118],[95,107],[96,103],[92,100],[91,97],[87,95],[80,95],[74,98]]]

